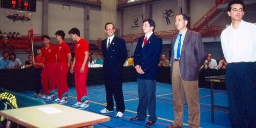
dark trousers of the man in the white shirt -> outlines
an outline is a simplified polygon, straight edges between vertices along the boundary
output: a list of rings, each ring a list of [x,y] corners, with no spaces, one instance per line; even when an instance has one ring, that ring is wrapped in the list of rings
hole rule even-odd
[[[256,127],[256,62],[228,63],[225,82],[232,127]]]

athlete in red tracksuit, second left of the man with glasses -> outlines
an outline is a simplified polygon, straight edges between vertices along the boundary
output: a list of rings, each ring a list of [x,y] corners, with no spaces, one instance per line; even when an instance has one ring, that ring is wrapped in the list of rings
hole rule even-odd
[[[71,61],[71,52],[69,46],[63,41],[65,33],[59,30],[55,33],[58,45],[57,49],[57,64],[56,64],[56,86],[58,98],[54,103],[64,104],[68,102],[68,72],[69,63]]]

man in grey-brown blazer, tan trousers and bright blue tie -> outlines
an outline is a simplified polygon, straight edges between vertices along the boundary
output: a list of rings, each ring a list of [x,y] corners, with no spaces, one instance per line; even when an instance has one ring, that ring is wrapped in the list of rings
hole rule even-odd
[[[174,122],[168,127],[182,127],[184,114],[184,98],[188,106],[189,127],[200,125],[199,104],[199,68],[203,65],[206,53],[202,36],[198,32],[188,30],[189,15],[178,14],[175,18],[179,33],[171,39],[170,78],[172,79],[174,100]]]

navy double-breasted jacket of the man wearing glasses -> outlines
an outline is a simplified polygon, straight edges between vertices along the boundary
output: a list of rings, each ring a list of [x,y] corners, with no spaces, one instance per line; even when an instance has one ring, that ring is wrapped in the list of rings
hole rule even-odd
[[[106,49],[107,39],[101,41],[101,51],[103,54],[103,76],[105,78],[122,76],[123,64],[127,58],[125,41],[114,36],[109,50]]]

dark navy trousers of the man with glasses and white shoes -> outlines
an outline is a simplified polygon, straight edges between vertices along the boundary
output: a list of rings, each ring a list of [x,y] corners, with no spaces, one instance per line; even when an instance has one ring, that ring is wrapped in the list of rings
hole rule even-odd
[[[122,89],[122,77],[105,77],[105,90],[106,90],[106,109],[109,111],[114,110],[114,100],[116,102],[116,111],[124,113],[124,99]]]

